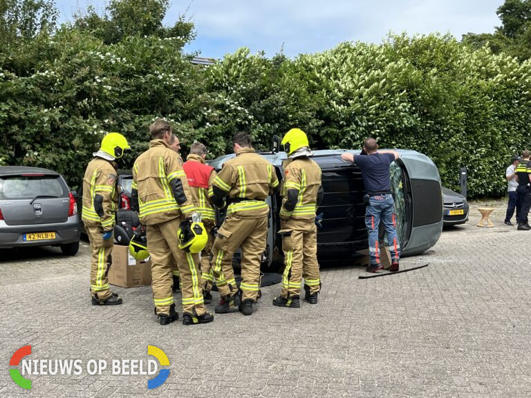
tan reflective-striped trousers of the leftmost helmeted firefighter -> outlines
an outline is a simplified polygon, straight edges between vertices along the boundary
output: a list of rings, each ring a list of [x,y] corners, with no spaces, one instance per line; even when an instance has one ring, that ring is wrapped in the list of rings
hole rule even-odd
[[[91,294],[97,299],[108,299],[109,291],[109,267],[111,267],[111,252],[114,246],[114,233],[111,238],[104,240],[103,229],[100,225],[85,225],[88,241],[91,243]]]

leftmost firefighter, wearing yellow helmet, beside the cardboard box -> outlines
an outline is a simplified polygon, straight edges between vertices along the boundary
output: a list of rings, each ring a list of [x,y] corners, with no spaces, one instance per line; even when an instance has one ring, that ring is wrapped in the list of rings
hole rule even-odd
[[[120,133],[105,135],[100,150],[93,153],[83,178],[82,220],[91,244],[92,305],[118,305],[122,298],[109,290],[107,274],[114,245],[114,222],[118,210],[118,164],[131,150]]]

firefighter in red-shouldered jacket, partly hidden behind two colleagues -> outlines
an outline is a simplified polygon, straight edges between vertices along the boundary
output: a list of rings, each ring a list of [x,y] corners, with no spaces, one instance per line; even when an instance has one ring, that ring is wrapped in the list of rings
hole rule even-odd
[[[210,266],[210,250],[214,243],[214,221],[216,214],[214,205],[209,198],[209,191],[212,196],[212,182],[217,174],[214,167],[205,164],[207,148],[201,142],[194,142],[190,146],[190,154],[183,165],[188,179],[188,185],[192,192],[192,200],[198,213],[201,213],[203,225],[208,234],[208,242],[201,252],[201,285],[203,287],[203,299],[205,303],[212,303],[212,284],[214,283],[214,274]]]

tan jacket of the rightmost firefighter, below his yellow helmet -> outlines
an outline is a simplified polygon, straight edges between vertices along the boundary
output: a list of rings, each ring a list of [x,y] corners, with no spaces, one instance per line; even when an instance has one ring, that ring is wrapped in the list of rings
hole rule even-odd
[[[284,161],[283,168],[280,218],[313,220],[323,196],[319,164],[310,158],[297,158]]]

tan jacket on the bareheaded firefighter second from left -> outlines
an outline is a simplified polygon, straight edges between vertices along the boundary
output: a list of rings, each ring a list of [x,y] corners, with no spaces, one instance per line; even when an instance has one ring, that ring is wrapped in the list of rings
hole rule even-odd
[[[163,140],[151,140],[149,149],[133,165],[131,207],[144,225],[159,224],[195,211],[180,156]]]

